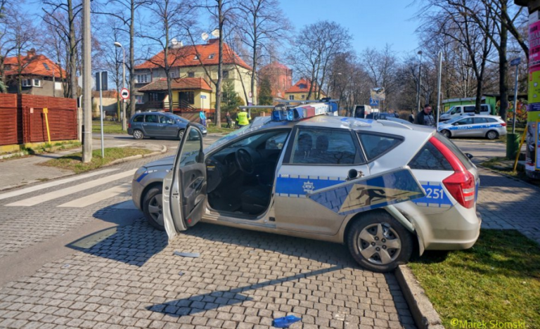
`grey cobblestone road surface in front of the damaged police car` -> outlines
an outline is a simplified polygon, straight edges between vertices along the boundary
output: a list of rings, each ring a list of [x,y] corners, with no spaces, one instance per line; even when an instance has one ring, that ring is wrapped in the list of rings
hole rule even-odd
[[[415,328],[395,277],[359,268],[343,245],[210,224],[167,244],[166,234],[139,211],[115,208],[129,193],[82,208],[58,207],[130,180],[32,207],[6,205],[66,186],[0,200],[0,259],[89,221],[136,219],[88,249],[68,244],[68,256],[0,288],[0,328],[269,328],[287,314],[302,318],[293,329]],[[200,257],[174,256],[174,250]]]

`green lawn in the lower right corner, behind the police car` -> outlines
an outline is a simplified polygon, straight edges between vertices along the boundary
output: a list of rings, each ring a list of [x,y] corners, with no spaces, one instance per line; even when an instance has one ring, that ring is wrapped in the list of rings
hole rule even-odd
[[[482,230],[469,250],[426,252],[409,266],[446,328],[469,328],[452,319],[540,328],[540,246],[518,231]]]

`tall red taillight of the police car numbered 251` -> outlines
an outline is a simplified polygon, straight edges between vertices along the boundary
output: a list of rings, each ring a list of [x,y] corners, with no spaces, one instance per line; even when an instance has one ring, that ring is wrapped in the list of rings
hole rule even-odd
[[[471,174],[465,166],[461,163],[458,157],[447,148],[444,143],[437,138],[432,137],[430,142],[437,148],[437,150],[446,157],[446,160],[450,163],[454,174],[446,177],[442,181],[446,190],[456,199],[456,201],[463,207],[470,209],[475,206],[475,176]]]

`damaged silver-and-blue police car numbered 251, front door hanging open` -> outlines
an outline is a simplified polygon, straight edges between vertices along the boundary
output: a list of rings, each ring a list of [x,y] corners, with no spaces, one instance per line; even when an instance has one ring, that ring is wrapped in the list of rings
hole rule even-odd
[[[169,240],[199,221],[344,243],[372,271],[424,250],[472,247],[479,177],[435,129],[335,116],[333,102],[278,106],[203,150],[141,167],[132,198]]]

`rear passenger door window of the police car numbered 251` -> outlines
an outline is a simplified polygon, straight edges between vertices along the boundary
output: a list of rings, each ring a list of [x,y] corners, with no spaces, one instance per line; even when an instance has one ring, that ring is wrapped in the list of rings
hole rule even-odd
[[[356,155],[350,131],[302,128],[295,137],[290,163],[353,164],[358,160]]]

